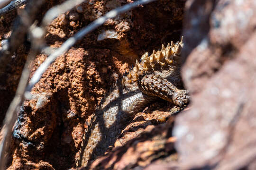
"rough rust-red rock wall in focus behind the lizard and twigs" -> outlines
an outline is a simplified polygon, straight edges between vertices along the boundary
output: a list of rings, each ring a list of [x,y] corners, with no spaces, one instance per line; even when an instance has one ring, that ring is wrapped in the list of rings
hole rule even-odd
[[[48,8],[63,1],[47,0],[38,10],[38,21]],[[54,50],[94,19],[130,2],[88,0],[48,26],[46,44]],[[151,52],[162,43],[166,46],[171,40],[179,40],[184,2],[158,0],[139,6],[108,20],[56,59],[33,88],[33,98],[23,103],[12,134],[8,169],[74,168],[87,118],[95,111],[96,104],[145,51]],[[15,14],[15,11],[6,14],[0,21],[10,25],[10,18]],[[0,32],[0,41],[8,38],[10,31],[5,26]],[[18,85],[29,46],[28,42],[24,43],[25,50],[14,54],[6,73],[1,76],[0,96],[5,99],[0,103],[1,120]],[[32,75],[46,57],[46,54],[36,57],[31,64]],[[170,108],[165,107],[163,111],[167,110]]]

